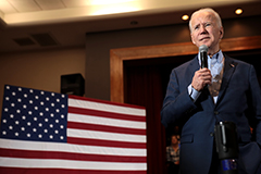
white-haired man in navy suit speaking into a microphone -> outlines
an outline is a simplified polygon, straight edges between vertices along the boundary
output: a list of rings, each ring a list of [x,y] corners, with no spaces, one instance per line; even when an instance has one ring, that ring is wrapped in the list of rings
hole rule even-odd
[[[165,127],[182,127],[181,173],[221,173],[214,126],[227,121],[237,127],[239,174],[260,174],[261,90],[256,71],[222,52],[224,29],[212,9],[195,12],[189,28],[192,42],[209,48],[209,69],[200,69],[199,55],[174,69],[161,111]]]

